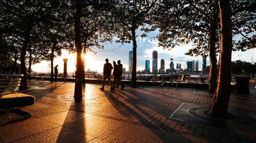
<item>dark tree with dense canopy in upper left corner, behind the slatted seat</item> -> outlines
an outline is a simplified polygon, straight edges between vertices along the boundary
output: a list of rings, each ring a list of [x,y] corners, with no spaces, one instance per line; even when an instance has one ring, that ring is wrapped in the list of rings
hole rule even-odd
[[[28,43],[34,26],[45,20],[49,11],[51,11],[58,2],[56,1],[8,1],[1,0],[0,9],[4,12],[1,16],[5,21],[1,27],[10,36],[19,39],[22,43],[20,54],[21,77],[19,89],[27,89],[27,68],[25,58],[27,54]]]

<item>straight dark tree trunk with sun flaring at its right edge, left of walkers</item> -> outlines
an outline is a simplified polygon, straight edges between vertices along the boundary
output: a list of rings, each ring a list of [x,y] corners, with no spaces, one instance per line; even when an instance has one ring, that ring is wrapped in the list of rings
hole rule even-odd
[[[75,80],[75,100],[82,99],[82,41],[80,33],[80,18],[81,18],[81,0],[76,0],[76,14],[75,14],[75,46],[76,46],[76,80]]]

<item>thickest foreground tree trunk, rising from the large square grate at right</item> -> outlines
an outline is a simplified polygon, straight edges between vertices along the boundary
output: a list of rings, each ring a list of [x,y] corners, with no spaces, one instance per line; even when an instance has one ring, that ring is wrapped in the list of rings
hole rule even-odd
[[[229,0],[220,0],[220,71],[217,91],[213,97],[210,114],[220,118],[228,117],[228,102],[231,82],[232,30]]]

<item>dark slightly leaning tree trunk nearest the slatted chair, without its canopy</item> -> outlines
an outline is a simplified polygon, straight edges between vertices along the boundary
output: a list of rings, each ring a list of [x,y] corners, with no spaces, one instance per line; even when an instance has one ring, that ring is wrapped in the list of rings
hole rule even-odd
[[[21,68],[21,81],[20,81],[20,90],[28,89],[28,84],[27,84],[27,67],[26,67],[26,54],[27,54],[27,48],[28,48],[28,42],[30,40],[30,34],[31,34],[31,24],[30,22],[27,23],[27,33],[25,36],[25,40],[23,42],[23,46],[21,49],[21,54],[20,54],[20,68]]]

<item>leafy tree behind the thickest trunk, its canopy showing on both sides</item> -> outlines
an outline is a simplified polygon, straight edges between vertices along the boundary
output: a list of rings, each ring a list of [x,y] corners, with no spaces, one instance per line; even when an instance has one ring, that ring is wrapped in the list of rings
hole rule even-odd
[[[214,3],[212,1],[191,0],[168,2],[164,4],[164,9],[162,10],[163,20],[160,18],[160,28],[163,33],[158,37],[159,45],[171,49],[180,44],[193,42],[193,47],[186,53],[187,55],[207,56],[209,52],[211,62],[209,91],[215,92],[217,85],[216,53],[220,51],[219,40],[217,40],[219,38],[217,36],[219,35],[219,30],[217,30],[219,29],[218,22],[220,21],[219,16],[217,16],[219,11],[218,0]],[[166,9],[169,11],[166,11]],[[249,21],[253,21],[255,18],[253,16],[255,13],[255,1],[232,1],[232,11],[232,21],[236,21],[233,22],[233,33],[242,35],[242,32],[236,32],[235,29],[248,27],[242,28],[243,32],[252,35],[253,26],[255,27],[255,25]],[[240,40],[236,42],[234,40],[237,46],[233,50],[252,48],[255,45],[253,37],[242,39],[244,42]]]

